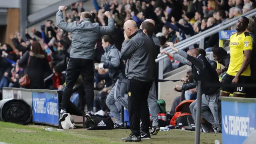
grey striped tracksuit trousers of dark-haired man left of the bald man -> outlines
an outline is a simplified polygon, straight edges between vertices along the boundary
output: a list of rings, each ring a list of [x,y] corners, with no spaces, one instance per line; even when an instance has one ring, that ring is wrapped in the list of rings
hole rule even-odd
[[[122,121],[115,102],[117,101],[119,104],[124,106],[126,110],[128,110],[128,100],[124,98],[124,94],[127,91],[127,82],[127,79],[118,79],[106,99],[106,104],[114,115],[117,124],[121,124]]]

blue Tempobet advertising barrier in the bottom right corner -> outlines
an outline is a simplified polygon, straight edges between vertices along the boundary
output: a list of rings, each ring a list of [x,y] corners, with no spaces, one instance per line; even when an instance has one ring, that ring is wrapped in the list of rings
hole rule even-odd
[[[222,97],[222,143],[243,144],[256,129],[256,98]]]

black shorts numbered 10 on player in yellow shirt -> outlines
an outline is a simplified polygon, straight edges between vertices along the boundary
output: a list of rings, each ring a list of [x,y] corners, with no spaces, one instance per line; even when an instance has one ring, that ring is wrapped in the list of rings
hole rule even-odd
[[[231,84],[232,80],[235,78],[235,76],[230,76],[229,74],[226,74],[222,80],[222,84]],[[250,76],[239,76],[238,84],[247,84],[250,82]],[[221,87],[221,92],[227,93],[227,94],[246,94],[246,88],[243,87],[237,87],[237,88],[230,88],[230,87]]]

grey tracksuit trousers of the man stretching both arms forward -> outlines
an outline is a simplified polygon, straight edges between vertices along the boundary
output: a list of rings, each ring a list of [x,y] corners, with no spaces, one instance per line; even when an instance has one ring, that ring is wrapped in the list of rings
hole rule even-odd
[[[202,106],[201,106],[201,116],[210,122],[213,126],[217,126],[221,129],[221,103],[219,100],[220,90],[212,95],[202,95]],[[192,117],[196,123],[196,101],[190,104],[190,111],[192,113]],[[208,110],[210,108],[210,111]],[[202,125],[202,128],[209,132],[207,126]]]

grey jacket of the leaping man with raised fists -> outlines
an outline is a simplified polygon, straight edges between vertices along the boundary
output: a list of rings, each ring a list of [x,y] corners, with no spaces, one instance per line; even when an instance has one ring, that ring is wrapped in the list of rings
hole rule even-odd
[[[101,35],[114,32],[114,19],[108,19],[108,26],[99,26],[98,23],[90,22],[89,18],[83,19],[80,23],[64,22],[63,13],[56,14],[57,26],[66,32],[71,32],[72,48],[71,58],[82,58],[92,60],[94,58],[94,47]]]

